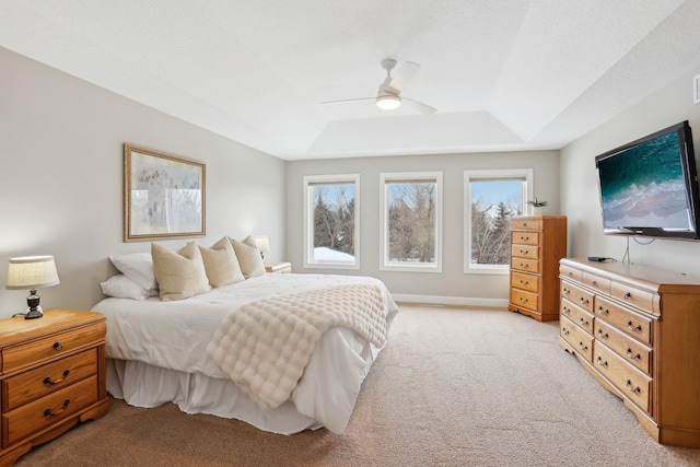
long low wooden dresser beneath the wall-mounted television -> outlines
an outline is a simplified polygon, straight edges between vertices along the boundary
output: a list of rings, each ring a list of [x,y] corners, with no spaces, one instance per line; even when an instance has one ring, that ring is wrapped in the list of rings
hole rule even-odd
[[[560,278],[560,346],[654,440],[700,447],[700,278],[586,259]]]

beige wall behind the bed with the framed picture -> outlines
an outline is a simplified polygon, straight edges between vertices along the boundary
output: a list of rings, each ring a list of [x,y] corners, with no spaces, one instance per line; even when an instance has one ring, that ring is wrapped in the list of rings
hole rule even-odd
[[[207,164],[207,236],[266,233],[269,259],[284,256],[285,164],[0,48],[0,317],[26,308],[7,290],[13,256],[56,257],[60,285],[39,290],[45,307],[89,308],[107,257],[150,252],[122,243],[122,144]],[[168,241],[179,247],[185,241]]]

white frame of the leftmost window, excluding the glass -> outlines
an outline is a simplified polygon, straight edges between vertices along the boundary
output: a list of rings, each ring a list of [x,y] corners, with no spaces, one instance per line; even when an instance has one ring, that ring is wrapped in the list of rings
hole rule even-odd
[[[354,185],[354,262],[317,262],[312,258],[314,250],[314,197],[311,189],[315,185]],[[304,265],[305,269],[360,269],[360,174],[335,174],[335,175],[305,175],[303,179],[304,190]]]

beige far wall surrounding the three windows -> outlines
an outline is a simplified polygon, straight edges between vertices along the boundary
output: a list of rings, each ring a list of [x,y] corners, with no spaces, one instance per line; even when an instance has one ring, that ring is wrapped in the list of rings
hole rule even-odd
[[[288,163],[287,259],[295,271],[373,276],[399,299],[406,295],[438,297],[439,303],[504,305],[508,276],[464,273],[464,171],[489,168],[534,170],[534,192],[549,201],[545,213],[559,213],[559,155],[557,151],[410,155],[395,157],[330,159]],[[380,173],[443,173],[442,272],[380,270]],[[304,175],[360,174],[360,270],[303,269]]]

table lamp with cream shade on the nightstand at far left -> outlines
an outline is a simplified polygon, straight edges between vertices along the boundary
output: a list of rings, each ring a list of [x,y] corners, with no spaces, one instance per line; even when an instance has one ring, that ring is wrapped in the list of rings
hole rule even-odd
[[[36,294],[36,290],[43,287],[58,285],[59,283],[52,256],[10,258],[7,288],[30,291],[30,296],[26,297],[28,308],[24,319],[40,318],[44,315],[39,306],[40,297]]]

